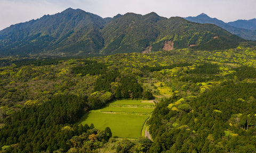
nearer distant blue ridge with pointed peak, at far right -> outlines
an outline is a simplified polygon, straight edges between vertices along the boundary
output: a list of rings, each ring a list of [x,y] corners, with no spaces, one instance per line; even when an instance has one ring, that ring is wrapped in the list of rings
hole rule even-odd
[[[247,39],[247,40],[256,40],[256,31],[254,29],[247,29],[247,28],[243,28],[241,26],[231,26],[234,25],[233,23],[225,23],[221,20],[218,20],[216,18],[210,18],[208,15],[202,13],[198,16],[192,17],[189,16],[187,18],[184,18],[188,21],[191,22],[197,22],[197,23],[211,23],[211,24],[215,24],[218,25],[219,27],[229,31],[230,33],[232,33],[233,35],[237,35],[241,38]]]

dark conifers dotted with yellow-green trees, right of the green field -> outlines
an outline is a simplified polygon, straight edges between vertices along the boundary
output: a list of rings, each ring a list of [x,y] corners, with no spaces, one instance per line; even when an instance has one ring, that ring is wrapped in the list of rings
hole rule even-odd
[[[255,152],[255,89],[225,82],[198,98],[162,101],[149,121],[149,152]]]

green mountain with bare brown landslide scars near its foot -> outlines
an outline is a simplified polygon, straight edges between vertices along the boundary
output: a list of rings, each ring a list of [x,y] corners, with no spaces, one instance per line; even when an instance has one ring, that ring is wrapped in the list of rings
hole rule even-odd
[[[151,52],[166,46],[166,50],[187,48],[207,43],[215,36],[231,36],[212,24],[191,23],[179,17],[167,19],[154,12],[143,16],[124,14],[108,22],[102,31],[106,41],[101,53],[105,54]]]

